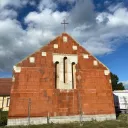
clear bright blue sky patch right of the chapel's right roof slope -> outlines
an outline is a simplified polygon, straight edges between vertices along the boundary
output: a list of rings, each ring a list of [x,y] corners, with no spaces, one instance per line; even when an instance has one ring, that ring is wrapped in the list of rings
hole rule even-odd
[[[97,58],[103,62],[112,73],[119,77],[120,81],[128,80],[128,40],[121,40],[122,45],[112,54],[98,56]]]

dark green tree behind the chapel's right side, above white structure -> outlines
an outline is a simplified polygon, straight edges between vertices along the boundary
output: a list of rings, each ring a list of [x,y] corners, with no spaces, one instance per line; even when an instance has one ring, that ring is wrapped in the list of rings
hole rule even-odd
[[[123,83],[119,83],[119,78],[117,75],[110,73],[111,74],[111,81],[112,81],[112,90],[125,90]]]

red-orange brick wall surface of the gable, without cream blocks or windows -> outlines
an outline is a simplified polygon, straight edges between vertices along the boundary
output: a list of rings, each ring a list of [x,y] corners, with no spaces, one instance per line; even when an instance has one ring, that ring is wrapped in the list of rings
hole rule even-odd
[[[62,36],[68,36],[68,42],[63,43]],[[58,49],[53,48],[58,44]],[[77,50],[72,46],[76,45]],[[41,56],[47,52],[47,56]],[[55,65],[52,53],[77,54],[76,89],[55,89]],[[83,54],[89,54],[84,59]],[[31,55],[35,63],[29,62],[29,57],[17,64],[22,67],[20,73],[14,72],[15,82],[11,90],[9,118],[25,117],[28,115],[28,98],[31,98],[31,116],[64,116],[77,115],[80,105],[83,114],[112,114],[114,113],[113,95],[110,75],[105,76],[105,66],[98,62],[93,65],[95,58],[77,44],[69,35],[62,34],[48,45]]]

